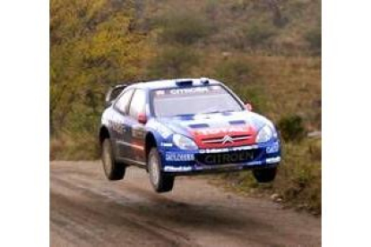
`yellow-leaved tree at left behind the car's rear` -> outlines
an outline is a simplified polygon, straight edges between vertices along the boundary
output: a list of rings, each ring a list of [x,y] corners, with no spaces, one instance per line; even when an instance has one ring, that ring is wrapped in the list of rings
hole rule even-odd
[[[142,73],[146,37],[131,29],[133,1],[51,0],[50,6],[50,130],[88,131],[108,86]]]

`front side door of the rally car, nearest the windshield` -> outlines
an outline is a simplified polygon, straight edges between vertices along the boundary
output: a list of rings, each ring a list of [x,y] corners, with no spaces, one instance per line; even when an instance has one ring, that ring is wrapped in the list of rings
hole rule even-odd
[[[124,151],[125,158],[129,158],[137,165],[145,165],[145,106],[147,95],[143,89],[135,89],[133,98],[130,102],[128,117],[125,125],[126,149]],[[141,121],[139,121],[141,119]]]

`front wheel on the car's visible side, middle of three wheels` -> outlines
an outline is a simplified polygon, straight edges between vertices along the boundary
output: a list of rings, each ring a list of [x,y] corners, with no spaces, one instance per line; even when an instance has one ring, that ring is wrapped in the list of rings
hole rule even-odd
[[[147,161],[150,181],[156,192],[170,192],[174,186],[175,177],[161,171],[161,159],[156,148],[152,148]]]

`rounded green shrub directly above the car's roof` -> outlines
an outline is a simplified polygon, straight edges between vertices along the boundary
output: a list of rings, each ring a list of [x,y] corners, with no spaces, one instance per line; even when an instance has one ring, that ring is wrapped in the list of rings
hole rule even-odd
[[[167,47],[151,60],[148,74],[151,78],[189,77],[194,65],[199,64],[199,56],[185,47]]]

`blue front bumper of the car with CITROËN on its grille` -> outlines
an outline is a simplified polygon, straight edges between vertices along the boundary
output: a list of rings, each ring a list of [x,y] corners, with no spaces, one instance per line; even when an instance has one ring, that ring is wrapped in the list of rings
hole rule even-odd
[[[280,141],[228,149],[161,149],[162,171],[197,175],[274,167],[280,164]]]

